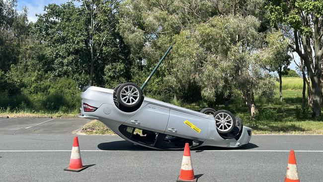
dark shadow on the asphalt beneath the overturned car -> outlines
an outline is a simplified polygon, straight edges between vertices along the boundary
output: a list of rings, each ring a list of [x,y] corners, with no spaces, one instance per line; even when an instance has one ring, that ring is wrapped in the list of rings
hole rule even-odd
[[[203,151],[208,151],[208,150],[247,150],[247,149],[254,149],[257,147],[258,146],[253,143],[248,143],[240,148],[224,148],[224,147],[204,146],[204,147],[199,147],[196,149],[191,149],[191,151],[203,152]],[[135,144],[128,142],[126,140],[100,143],[97,145],[97,148],[99,148],[100,150],[109,150],[109,151],[161,151],[161,150],[157,150],[157,149],[143,147],[140,145],[135,145]],[[183,150],[183,149],[179,149],[179,150]],[[163,151],[165,151],[165,150],[163,150]]]

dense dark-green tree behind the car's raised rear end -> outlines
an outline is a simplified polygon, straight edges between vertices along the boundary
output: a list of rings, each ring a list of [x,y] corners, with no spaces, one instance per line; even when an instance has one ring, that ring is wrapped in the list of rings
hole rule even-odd
[[[45,72],[54,78],[72,78],[80,87],[111,86],[105,67],[118,64],[124,68],[119,77],[130,80],[128,49],[115,31],[119,2],[80,2],[81,6],[72,1],[49,4],[45,13],[38,15],[33,31],[45,48]]]

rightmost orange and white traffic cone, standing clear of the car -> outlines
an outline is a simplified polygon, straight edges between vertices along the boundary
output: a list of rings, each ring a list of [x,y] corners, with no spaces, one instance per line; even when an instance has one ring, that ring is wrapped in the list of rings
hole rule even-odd
[[[300,182],[297,172],[295,153],[293,150],[289,152],[285,182]]]

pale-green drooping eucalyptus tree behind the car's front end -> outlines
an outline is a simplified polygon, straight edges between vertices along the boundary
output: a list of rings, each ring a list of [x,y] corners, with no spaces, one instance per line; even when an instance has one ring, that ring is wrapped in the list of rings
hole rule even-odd
[[[242,95],[250,116],[255,117],[254,96],[270,100],[275,87],[274,79],[262,67],[263,34],[258,32],[259,26],[259,20],[251,15],[215,16],[197,25],[191,40],[182,35],[174,46],[173,74],[195,79],[208,100],[232,91]]]

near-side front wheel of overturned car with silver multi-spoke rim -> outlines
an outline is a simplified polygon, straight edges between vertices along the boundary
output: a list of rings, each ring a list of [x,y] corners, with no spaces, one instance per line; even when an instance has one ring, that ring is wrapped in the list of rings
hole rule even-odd
[[[235,116],[227,110],[216,111],[214,118],[219,133],[230,133],[236,126]]]

